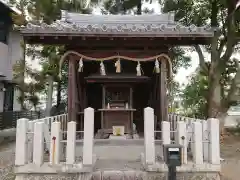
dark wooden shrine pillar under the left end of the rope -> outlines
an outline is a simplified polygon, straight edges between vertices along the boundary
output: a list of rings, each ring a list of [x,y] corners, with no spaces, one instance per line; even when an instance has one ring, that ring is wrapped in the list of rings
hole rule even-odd
[[[68,66],[68,121],[76,121],[76,69],[72,56]]]

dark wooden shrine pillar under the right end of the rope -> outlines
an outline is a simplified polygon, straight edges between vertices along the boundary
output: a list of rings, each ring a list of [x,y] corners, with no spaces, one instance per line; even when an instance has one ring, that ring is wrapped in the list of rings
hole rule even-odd
[[[168,102],[167,102],[167,61],[161,60],[160,70],[160,121],[168,121]]]

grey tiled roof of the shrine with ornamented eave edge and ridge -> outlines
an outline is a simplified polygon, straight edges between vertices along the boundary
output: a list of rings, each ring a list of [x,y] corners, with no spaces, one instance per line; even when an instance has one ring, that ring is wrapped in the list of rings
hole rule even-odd
[[[158,15],[86,15],[61,11],[61,19],[53,24],[28,23],[23,34],[46,35],[138,35],[212,37],[211,27],[185,27],[174,21],[174,13]]]

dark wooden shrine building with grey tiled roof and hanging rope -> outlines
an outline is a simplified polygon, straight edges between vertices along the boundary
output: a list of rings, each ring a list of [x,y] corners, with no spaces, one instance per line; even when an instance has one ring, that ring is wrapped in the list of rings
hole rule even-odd
[[[155,129],[168,120],[169,49],[209,44],[209,27],[185,27],[174,14],[84,15],[62,11],[53,24],[28,24],[29,44],[64,45],[59,76],[68,65],[68,116],[83,129],[92,107],[96,138],[143,135],[143,109],[154,108]],[[117,130],[116,130],[117,129]],[[116,132],[118,131],[118,132]],[[124,137],[125,137],[124,136]]]

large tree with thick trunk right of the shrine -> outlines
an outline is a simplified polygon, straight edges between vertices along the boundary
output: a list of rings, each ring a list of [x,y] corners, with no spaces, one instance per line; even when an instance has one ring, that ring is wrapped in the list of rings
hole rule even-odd
[[[240,71],[237,69],[238,63],[235,63],[236,66],[231,72],[228,70],[228,65],[233,61],[231,56],[239,43],[237,34],[240,32],[240,12],[235,11],[237,1],[165,0],[161,3],[164,12],[175,11],[176,20],[184,25],[220,27],[216,29],[210,46],[195,46],[201,71],[208,78],[208,117],[216,117],[228,106],[229,97],[236,89],[235,84],[229,83],[229,80],[230,88],[226,88],[226,82],[223,82],[226,77],[231,77],[232,73]],[[208,66],[205,63],[204,50],[211,54]]]

